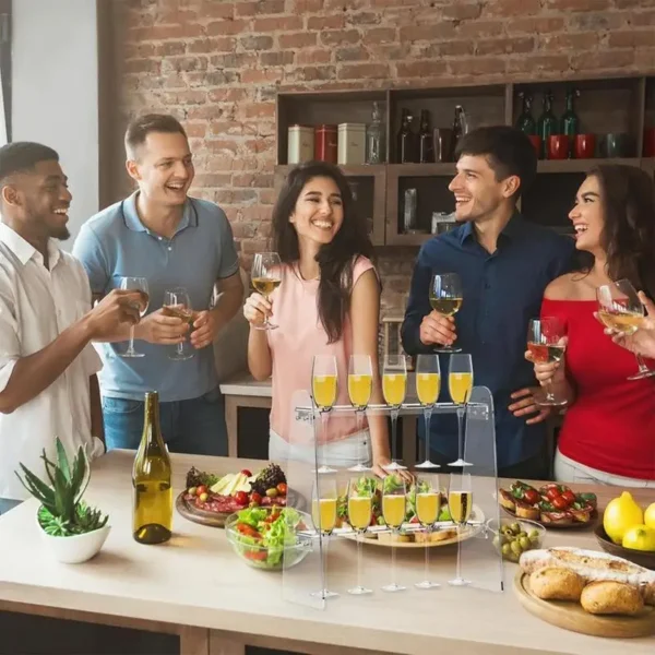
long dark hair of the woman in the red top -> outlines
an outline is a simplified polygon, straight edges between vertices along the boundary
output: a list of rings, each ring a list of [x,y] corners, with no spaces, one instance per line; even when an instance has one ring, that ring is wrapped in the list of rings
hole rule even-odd
[[[655,184],[641,168],[603,164],[590,170],[600,187],[605,226],[600,245],[611,279],[629,279],[655,295]]]

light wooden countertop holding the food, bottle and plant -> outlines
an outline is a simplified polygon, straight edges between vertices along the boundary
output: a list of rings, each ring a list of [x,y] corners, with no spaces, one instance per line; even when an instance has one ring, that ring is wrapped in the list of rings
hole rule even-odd
[[[368,547],[365,581],[376,593],[343,593],[324,610],[281,597],[281,574],[250,569],[233,553],[222,529],[175,515],[175,536],[163,546],[142,546],[131,536],[131,466],[133,453],[114,451],[94,465],[87,492],[92,504],[110,514],[111,534],[100,555],[79,565],[52,561],[41,549],[31,500],[0,517],[0,602],[15,602],[115,617],[212,628],[267,638],[368,648],[378,653],[471,655],[593,654],[655,652],[655,638],[603,640],[568,632],[522,609],[514,593],[472,588],[402,594],[379,591],[389,577],[389,551]],[[257,469],[262,462],[172,455],[176,492],[191,465],[216,473]],[[616,488],[595,488],[600,504]],[[635,490],[641,502],[653,492]],[[592,531],[551,531],[546,546],[596,548]],[[454,571],[454,549],[431,549],[431,571],[445,581]],[[340,540],[330,548],[330,586],[344,591],[354,582],[355,545]],[[340,567],[340,563],[342,564]],[[400,553],[398,579],[421,579],[422,550]],[[505,581],[516,568],[507,564]],[[511,585],[505,585],[510,587]]]

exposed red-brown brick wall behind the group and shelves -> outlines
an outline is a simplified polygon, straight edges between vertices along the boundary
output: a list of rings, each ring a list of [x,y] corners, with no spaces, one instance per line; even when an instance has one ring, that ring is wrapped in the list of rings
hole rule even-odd
[[[277,90],[655,73],[655,0],[112,0],[111,12],[106,164],[121,170],[130,116],[182,119],[194,193],[225,209],[247,266],[270,235]],[[109,187],[108,200],[129,188],[116,175]],[[414,255],[381,253],[386,306],[402,302]]]

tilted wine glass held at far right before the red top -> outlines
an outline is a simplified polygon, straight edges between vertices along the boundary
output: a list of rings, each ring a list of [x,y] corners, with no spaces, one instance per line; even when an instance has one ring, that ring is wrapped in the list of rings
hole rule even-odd
[[[606,327],[623,334],[634,334],[642,325],[644,306],[641,303],[635,288],[628,279],[619,279],[614,284],[604,284],[596,289],[598,299],[598,318]],[[635,355],[639,371],[628,380],[642,380],[655,376],[641,355]]]

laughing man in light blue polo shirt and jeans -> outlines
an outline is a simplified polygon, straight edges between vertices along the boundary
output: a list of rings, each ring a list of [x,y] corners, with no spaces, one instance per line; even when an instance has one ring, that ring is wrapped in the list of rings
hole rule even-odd
[[[145,277],[148,284],[148,313],[134,331],[136,350],[144,356],[121,356],[126,344],[119,342],[128,340],[128,330],[102,345],[107,446],[138,448],[144,393],[155,390],[171,451],[226,455],[212,344],[243,296],[231,229],[218,206],[187,195],[194,168],[184,129],[174,117],[147,115],[133,121],[126,151],[138,191],[84,224],[73,249],[96,297],[119,288],[124,276]],[[221,296],[211,308],[215,286]],[[164,291],[172,287],[189,294],[196,312],[191,329],[162,310]],[[170,359],[186,340],[194,356]]]

